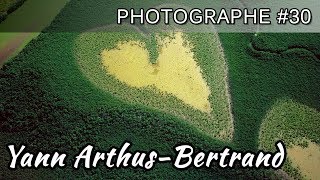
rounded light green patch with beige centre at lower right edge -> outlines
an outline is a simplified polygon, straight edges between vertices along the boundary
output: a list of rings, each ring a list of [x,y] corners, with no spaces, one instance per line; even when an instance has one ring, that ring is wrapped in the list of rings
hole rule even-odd
[[[320,113],[306,105],[284,99],[276,102],[261,125],[260,148],[272,151],[274,142],[287,145],[284,170],[293,178],[319,177]]]

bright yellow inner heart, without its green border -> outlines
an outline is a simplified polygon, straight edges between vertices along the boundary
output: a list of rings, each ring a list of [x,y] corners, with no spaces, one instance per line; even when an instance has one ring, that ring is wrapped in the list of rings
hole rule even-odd
[[[157,42],[161,49],[156,64],[150,63],[143,43],[129,41],[104,50],[101,53],[103,65],[108,73],[129,86],[154,86],[209,113],[210,89],[182,33],[175,33],[174,38],[157,38]]]

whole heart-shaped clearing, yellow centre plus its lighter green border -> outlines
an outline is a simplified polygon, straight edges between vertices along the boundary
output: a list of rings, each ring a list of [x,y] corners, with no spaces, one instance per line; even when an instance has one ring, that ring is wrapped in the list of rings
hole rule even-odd
[[[128,29],[78,36],[74,56],[85,77],[127,103],[172,114],[211,137],[231,140],[227,68],[218,35]]]

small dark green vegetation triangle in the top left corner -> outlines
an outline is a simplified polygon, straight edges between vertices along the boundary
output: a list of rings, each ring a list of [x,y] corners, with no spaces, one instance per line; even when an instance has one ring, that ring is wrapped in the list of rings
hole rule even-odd
[[[0,23],[4,21],[9,14],[18,9],[26,0],[1,0],[0,1]]]

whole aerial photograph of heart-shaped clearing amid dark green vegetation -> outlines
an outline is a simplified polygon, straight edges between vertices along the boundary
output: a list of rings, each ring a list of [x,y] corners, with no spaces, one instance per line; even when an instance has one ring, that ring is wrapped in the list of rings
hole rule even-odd
[[[255,3],[0,0],[0,179],[320,179],[320,29],[220,25],[218,9],[252,13]],[[153,15],[214,8],[218,18],[203,18],[218,25],[132,22],[130,9],[150,8]],[[302,23],[318,22],[320,10],[312,22],[311,11],[301,12]],[[107,162],[125,142],[138,155],[122,166]],[[209,151],[226,148],[276,157],[277,142],[286,148],[279,168],[245,167],[241,153],[232,167],[206,161]],[[179,169],[174,157],[185,144],[194,165]],[[93,167],[85,158],[73,166],[88,145],[106,153],[91,155]],[[54,157],[45,156],[34,165],[39,152],[65,153],[56,160],[65,165],[50,166]],[[152,152],[172,161],[157,158],[146,168]],[[140,162],[125,165],[131,161]]]

